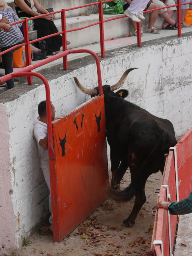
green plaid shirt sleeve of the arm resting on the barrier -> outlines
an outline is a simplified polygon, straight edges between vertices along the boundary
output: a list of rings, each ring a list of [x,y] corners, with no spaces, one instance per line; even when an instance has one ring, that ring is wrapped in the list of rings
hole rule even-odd
[[[179,202],[172,202],[168,210],[172,215],[183,215],[189,214],[192,212],[192,191],[188,197],[179,201]]]

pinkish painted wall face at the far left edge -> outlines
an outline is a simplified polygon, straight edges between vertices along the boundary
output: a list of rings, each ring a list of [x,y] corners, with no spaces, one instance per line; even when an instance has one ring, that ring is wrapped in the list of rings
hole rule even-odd
[[[9,125],[6,108],[0,105],[0,255],[10,255],[16,246],[9,160]],[[13,249],[11,249],[13,248]]]

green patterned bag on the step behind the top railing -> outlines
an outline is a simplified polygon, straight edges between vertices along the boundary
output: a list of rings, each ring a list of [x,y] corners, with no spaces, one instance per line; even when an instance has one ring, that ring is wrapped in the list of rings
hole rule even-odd
[[[124,13],[121,0],[116,0],[113,2],[107,2],[103,4],[103,14],[120,14],[120,13]]]

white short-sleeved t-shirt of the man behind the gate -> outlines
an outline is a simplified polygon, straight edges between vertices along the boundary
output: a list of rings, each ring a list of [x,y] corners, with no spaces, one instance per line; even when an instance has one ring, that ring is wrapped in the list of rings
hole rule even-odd
[[[39,151],[41,169],[49,167],[49,151],[39,145],[39,141],[47,136],[47,124],[39,121],[39,116],[34,125],[34,137]]]

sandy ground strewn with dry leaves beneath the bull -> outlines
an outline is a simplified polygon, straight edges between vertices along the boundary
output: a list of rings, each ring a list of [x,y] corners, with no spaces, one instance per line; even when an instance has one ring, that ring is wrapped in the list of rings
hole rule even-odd
[[[160,188],[162,174],[151,175],[146,183],[147,202],[140,210],[134,227],[126,228],[122,221],[132,209],[134,198],[126,203],[106,200],[94,213],[61,243],[53,242],[47,227],[27,240],[20,256],[144,256],[150,249],[157,202],[156,188]],[[122,187],[129,184],[129,172],[122,180]],[[43,231],[42,231],[43,230]]]

